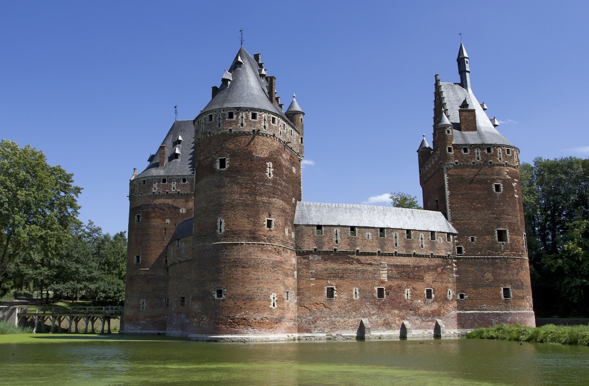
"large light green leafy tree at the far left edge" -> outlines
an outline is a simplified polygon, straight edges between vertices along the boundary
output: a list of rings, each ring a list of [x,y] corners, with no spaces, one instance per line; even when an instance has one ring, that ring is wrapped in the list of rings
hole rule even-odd
[[[0,142],[0,290],[19,255],[52,259],[77,222],[81,188],[30,145]],[[47,264],[47,261],[45,261]]]

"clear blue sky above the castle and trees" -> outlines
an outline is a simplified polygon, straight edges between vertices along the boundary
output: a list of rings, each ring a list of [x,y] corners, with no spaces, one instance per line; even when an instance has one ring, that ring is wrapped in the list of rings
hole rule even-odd
[[[84,188],[82,221],[127,230],[128,181],[174,121],[196,117],[239,49],[262,53],[305,111],[303,199],[418,196],[434,75],[472,89],[535,157],[589,155],[589,2],[5,1],[0,137],[31,144]]]

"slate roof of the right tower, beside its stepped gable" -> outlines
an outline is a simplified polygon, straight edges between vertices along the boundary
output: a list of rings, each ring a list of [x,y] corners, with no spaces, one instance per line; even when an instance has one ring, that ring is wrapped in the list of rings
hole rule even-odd
[[[454,144],[489,144],[489,145],[507,145],[515,147],[507,138],[503,137],[491,123],[485,110],[477,101],[477,98],[469,91],[456,83],[440,82],[442,88],[442,95],[446,104],[446,112],[448,112],[450,122],[454,125]],[[477,115],[477,131],[460,131],[460,117],[458,109],[462,102],[466,99],[469,108],[475,109]]]

